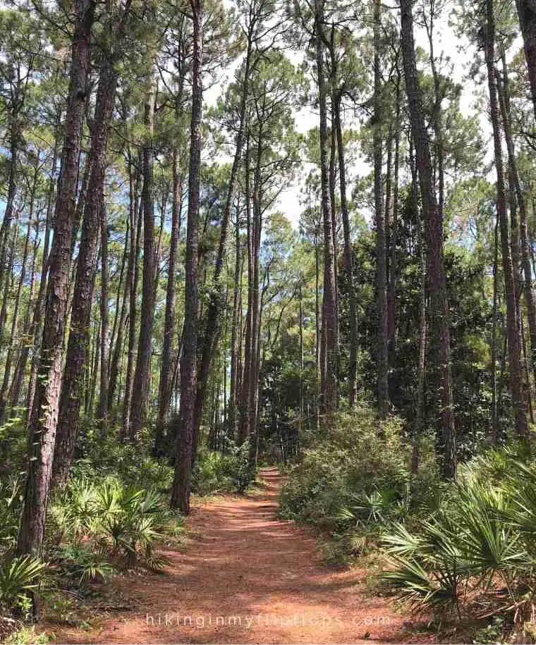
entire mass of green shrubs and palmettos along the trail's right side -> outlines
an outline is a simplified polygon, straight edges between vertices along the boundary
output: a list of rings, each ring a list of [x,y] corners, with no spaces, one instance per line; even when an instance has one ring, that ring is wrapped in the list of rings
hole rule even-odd
[[[439,629],[477,643],[536,642],[536,462],[488,450],[441,481],[432,438],[410,474],[399,419],[340,414],[290,469],[281,515],[329,535],[332,563],[377,568],[371,586]],[[456,627],[458,629],[458,627]],[[446,633],[446,632],[443,632]]]

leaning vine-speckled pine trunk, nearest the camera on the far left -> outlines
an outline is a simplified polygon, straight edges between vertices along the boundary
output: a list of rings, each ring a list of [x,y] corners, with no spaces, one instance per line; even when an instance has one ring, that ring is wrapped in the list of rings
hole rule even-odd
[[[32,553],[40,556],[42,553],[59,410],[74,198],[95,4],[91,0],[79,0],[75,3],[74,10],[75,29],[63,145],[63,177],[56,202],[54,240],[50,254],[47,304],[38,367],[39,378],[30,418],[28,475],[17,543],[17,551],[21,555]],[[39,618],[37,598],[33,603],[33,613],[35,618]]]

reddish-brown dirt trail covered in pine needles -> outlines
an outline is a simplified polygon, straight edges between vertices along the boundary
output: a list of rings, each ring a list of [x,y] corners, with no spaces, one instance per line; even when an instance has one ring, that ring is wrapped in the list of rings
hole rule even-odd
[[[193,508],[183,550],[166,548],[160,575],[114,580],[123,607],[86,629],[48,625],[68,643],[430,642],[367,570],[326,565],[312,529],[276,517],[284,477],[263,469],[262,491]]]

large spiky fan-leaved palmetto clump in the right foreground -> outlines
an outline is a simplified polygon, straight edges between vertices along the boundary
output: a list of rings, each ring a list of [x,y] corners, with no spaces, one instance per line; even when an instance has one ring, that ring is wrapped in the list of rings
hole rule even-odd
[[[530,617],[536,572],[536,467],[492,450],[461,467],[458,484],[429,520],[384,535],[383,574],[416,611],[453,612],[475,603],[488,616]]]

